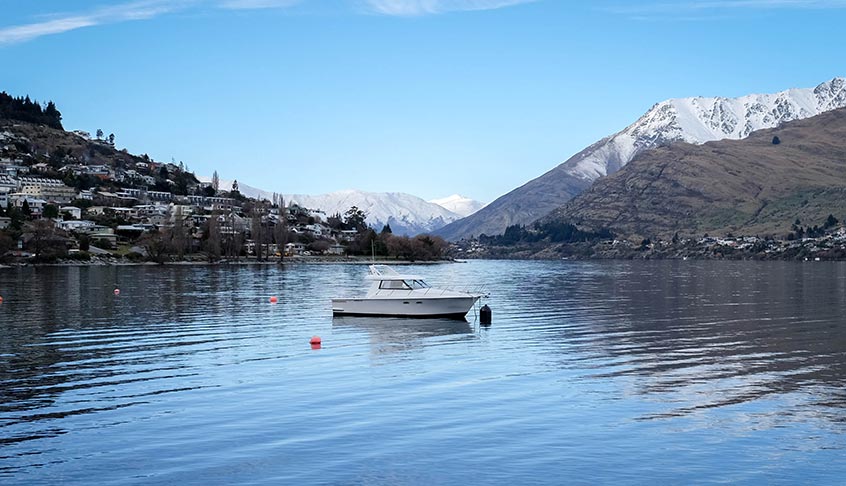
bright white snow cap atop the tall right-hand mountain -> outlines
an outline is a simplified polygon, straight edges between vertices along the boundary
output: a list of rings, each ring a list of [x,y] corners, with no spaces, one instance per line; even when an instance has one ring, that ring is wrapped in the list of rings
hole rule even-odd
[[[695,97],[662,101],[624,130],[594,143],[565,163],[565,173],[595,180],[619,170],[640,152],[683,141],[746,138],[755,130],[846,106],[846,79],[816,88],[739,98]]]

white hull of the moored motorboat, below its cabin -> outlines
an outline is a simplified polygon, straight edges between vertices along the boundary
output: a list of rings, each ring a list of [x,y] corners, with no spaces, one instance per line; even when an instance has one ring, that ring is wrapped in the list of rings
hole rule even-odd
[[[452,317],[462,318],[477,296],[408,299],[332,299],[336,316]]]

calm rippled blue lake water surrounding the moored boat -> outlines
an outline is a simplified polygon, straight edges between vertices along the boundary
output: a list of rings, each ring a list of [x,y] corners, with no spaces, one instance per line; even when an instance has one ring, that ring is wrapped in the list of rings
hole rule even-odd
[[[362,265],[0,269],[0,483],[846,481],[843,263],[398,268],[493,325],[333,319]]]

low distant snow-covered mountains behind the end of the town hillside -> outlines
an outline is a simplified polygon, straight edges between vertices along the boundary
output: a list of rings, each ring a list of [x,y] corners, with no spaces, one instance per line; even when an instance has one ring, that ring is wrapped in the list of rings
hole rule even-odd
[[[202,182],[210,182],[211,177],[198,176]],[[232,181],[220,180],[221,190],[229,190]],[[273,193],[238,183],[241,194],[256,199],[273,200]],[[367,214],[367,224],[381,230],[386,224],[391,225],[394,234],[417,235],[430,233],[442,226],[461,218],[438,204],[401,192],[365,192],[344,190],[329,194],[280,194],[285,205],[297,204],[324,217],[340,213],[341,216],[356,206]]]

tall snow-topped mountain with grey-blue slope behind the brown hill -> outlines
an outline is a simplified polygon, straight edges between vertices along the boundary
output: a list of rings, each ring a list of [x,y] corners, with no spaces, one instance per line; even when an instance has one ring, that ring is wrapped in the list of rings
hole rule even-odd
[[[844,106],[844,78],[834,78],[816,88],[789,89],[775,94],[667,100],[653,106],[624,130],[599,140],[471,216],[439,229],[436,234],[450,240],[481,233],[500,234],[509,225],[528,224],[550,213],[600,177],[620,170],[645,150],[674,142],[702,144],[742,139],[755,130]]]

